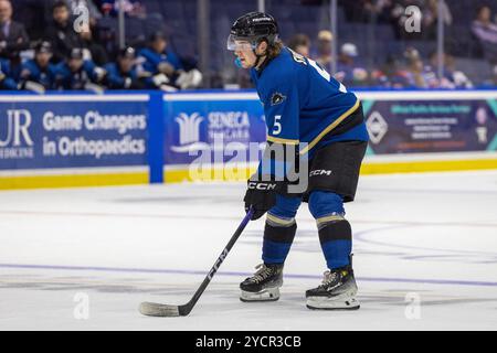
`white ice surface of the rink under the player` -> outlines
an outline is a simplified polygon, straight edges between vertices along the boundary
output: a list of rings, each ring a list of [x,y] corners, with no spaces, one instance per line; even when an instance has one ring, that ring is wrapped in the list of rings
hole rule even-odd
[[[189,317],[140,315],[141,301],[190,299],[243,217],[243,184],[0,192],[0,330],[497,329],[497,171],[361,178],[346,205],[359,311],[305,308],[325,261],[304,204],[279,301],[237,297],[260,263],[260,220]],[[74,317],[77,293],[88,296],[87,320]]]

